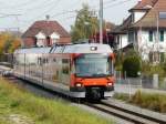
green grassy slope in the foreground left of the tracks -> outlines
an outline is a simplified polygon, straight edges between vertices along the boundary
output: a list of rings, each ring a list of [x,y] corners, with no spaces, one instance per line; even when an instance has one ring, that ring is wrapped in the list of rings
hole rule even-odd
[[[112,124],[64,101],[35,96],[0,79],[0,124]]]

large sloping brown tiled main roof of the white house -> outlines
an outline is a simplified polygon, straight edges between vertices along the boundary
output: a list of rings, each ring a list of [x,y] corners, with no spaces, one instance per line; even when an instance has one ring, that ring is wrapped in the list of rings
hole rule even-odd
[[[166,19],[159,19],[159,12],[166,12],[166,0],[157,0],[154,7],[136,23],[132,24],[131,28],[166,28]]]

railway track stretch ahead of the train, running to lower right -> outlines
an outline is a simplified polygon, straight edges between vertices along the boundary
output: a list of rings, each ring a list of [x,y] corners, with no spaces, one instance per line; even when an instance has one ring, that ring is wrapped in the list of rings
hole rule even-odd
[[[122,120],[127,121],[128,123],[134,124],[166,124],[166,121],[154,118],[151,116],[143,115],[141,113],[136,113],[126,108],[123,108],[121,106],[116,106],[112,103],[107,102],[101,102],[98,104],[91,104],[85,103],[85,105],[93,107],[95,110],[98,110],[101,112],[104,112],[110,115],[114,115],[116,117],[120,117]]]

